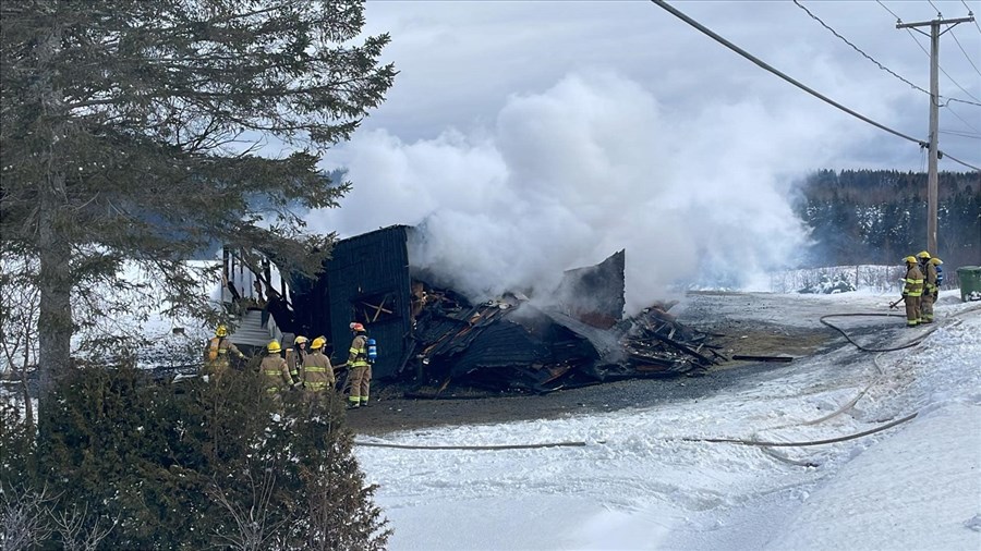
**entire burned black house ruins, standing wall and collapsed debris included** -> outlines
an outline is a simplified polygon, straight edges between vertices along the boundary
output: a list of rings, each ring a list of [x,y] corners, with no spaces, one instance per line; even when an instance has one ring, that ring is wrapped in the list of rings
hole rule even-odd
[[[473,304],[412,265],[414,231],[392,225],[339,241],[316,281],[289,282],[287,323],[324,334],[331,362],[342,364],[348,325],[360,321],[379,345],[375,379],[437,393],[450,385],[541,393],[699,374],[725,359],[666,305],[623,317],[625,250],[566,271],[549,303],[513,292]]]

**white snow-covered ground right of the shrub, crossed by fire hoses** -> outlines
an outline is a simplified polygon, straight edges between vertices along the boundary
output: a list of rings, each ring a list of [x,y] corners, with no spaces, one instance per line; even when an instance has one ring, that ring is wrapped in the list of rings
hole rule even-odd
[[[747,316],[816,325],[892,295],[786,295]],[[796,304],[795,304],[796,303]],[[683,306],[683,305],[681,305]],[[938,323],[883,326],[899,352],[843,345],[739,390],[557,420],[398,432],[359,446],[390,549],[981,549],[981,308],[944,292]],[[815,314],[816,313],[816,314]],[[915,418],[879,430],[916,414]],[[875,431],[869,436],[843,437]],[[710,442],[727,438],[748,443]],[[753,442],[816,445],[765,446]]]

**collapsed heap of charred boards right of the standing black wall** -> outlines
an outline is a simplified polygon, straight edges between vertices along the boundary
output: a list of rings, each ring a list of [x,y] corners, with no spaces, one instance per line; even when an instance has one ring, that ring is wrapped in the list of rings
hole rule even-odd
[[[434,389],[431,397],[451,387],[546,393],[700,375],[725,359],[708,334],[679,323],[664,305],[606,327],[609,316],[595,310],[538,307],[518,293],[472,305],[450,290],[413,287],[414,369],[405,371]]]

